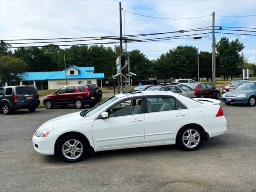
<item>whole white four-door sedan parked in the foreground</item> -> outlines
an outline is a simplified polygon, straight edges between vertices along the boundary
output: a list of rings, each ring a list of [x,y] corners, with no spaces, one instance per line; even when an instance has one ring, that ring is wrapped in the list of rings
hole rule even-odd
[[[203,140],[227,130],[219,103],[163,91],[118,94],[88,111],[45,122],[33,145],[38,153],[57,152],[66,162],[97,151],[176,143],[196,150]]]

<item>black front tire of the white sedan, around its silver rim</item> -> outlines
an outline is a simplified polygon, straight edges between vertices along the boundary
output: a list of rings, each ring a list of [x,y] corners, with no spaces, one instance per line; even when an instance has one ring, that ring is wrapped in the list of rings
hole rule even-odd
[[[72,151],[71,152],[68,152],[68,155],[67,156],[70,156],[70,158],[67,158],[63,152],[62,152],[62,148],[67,148],[69,149],[65,143],[68,141],[68,140],[71,140],[70,141],[70,144],[74,144],[72,143],[73,141],[72,140],[77,140],[78,142],[80,142],[80,144],[78,144],[78,147],[79,148],[82,148],[82,154],[78,157],[78,158],[75,158],[75,159],[70,159],[71,158],[71,153],[72,151],[74,152],[74,154],[76,154],[76,156],[78,156],[79,152],[77,151],[74,151],[74,148],[71,148]],[[82,147],[81,147],[82,146]],[[75,147],[76,148],[76,147]],[[82,138],[81,136],[79,135],[76,135],[76,134],[70,134],[70,135],[66,135],[64,136],[63,138],[60,139],[58,145],[57,145],[57,152],[58,152],[58,156],[68,162],[68,163],[74,163],[74,162],[78,162],[80,160],[82,160],[84,158],[84,156],[88,155],[89,154],[89,151],[88,151],[88,144],[86,143],[86,141],[84,140],[84,138]],[[74,158],[74,156],[73,156]]]

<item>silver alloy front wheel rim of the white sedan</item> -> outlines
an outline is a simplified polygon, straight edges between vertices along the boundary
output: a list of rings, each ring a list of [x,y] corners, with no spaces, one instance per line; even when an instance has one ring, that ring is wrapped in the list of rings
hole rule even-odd
[[[63,144],[62,153],[68,159],[77,159],[83,153],[83,146],[78,140],[70,139]]]

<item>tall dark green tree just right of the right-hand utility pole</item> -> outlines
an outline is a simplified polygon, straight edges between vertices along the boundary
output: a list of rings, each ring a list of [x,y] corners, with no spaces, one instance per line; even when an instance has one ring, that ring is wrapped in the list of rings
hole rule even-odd
[[[219,60],[219,68],[224,80],[231,76],[240,75],[240,52],[244,48],[244,44],[239,42],[238,39],[229,41],[228,38],[223,37],[219,42],[216,43],[217,55]]]

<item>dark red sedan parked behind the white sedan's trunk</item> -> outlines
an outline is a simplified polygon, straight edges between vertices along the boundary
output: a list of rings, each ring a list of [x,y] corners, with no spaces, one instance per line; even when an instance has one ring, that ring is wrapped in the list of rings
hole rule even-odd
[[[209,83],[190,83],[186,85],[194,89],[196,97],[220,98],[220,91]]]

